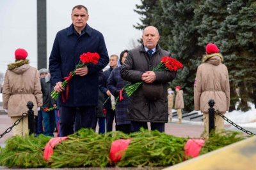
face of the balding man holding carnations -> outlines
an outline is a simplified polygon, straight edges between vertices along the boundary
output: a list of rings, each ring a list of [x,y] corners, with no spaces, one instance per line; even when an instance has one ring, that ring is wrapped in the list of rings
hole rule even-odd
[[[152,50],[156,47],[156,44],[159,40],[160,36],[157,34],[157,30],[154,27],[147,27],[142,36],[143,45],[148,48],[148,50]]]

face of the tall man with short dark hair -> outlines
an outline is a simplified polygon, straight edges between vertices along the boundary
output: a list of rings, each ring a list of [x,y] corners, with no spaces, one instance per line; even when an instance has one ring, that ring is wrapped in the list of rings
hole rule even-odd
[[[80,10],[75,8],[71,13],[71,19],[75,29],[83,29],[89,19],[89,15],[84,8],[81,8]]]

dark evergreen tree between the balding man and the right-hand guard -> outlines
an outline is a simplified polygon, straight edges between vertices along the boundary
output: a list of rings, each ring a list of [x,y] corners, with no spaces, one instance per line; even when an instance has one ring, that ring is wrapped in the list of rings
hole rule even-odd
[[[198,46],[198,33],[193,24],[195,0],[161,0],[164,13],[173,22],[172,34],[168,36],[168,50],[173,53],[173,58],[179,60],[184,69],[177,72],[177,78],[171,87],[180,85],[184,91],[185,110],[194,110],[194,81],[197,66],[200,64],[204,47]],[[208,102],[208,101],[205,101]]]

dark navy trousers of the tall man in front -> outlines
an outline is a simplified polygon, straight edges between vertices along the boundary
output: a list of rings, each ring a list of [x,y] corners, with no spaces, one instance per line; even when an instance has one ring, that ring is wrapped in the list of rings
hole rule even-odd
[[[62,136],[73,134],[77,107],[59,106],[60,125]],[[81,127],[92,128],[95,126],[96,106],[79,106]]]

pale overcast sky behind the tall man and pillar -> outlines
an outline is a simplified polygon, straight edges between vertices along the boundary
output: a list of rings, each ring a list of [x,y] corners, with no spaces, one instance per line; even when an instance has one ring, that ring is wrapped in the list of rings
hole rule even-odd
[[[88,8],[88,24],[102,32],[109,55],[120,55],[132,39],[142,32],[132,25],[140,22],[134,12],[140,0],[48,0],[47,1],[47,63],[56,33],[71,23],[71,10],[77,4]],[[36,0],[0,0],[0,73],[14,62],[14,52],[24,48],[30,65],[37,67]],[[48,64],[47,64],[48,65]]]

